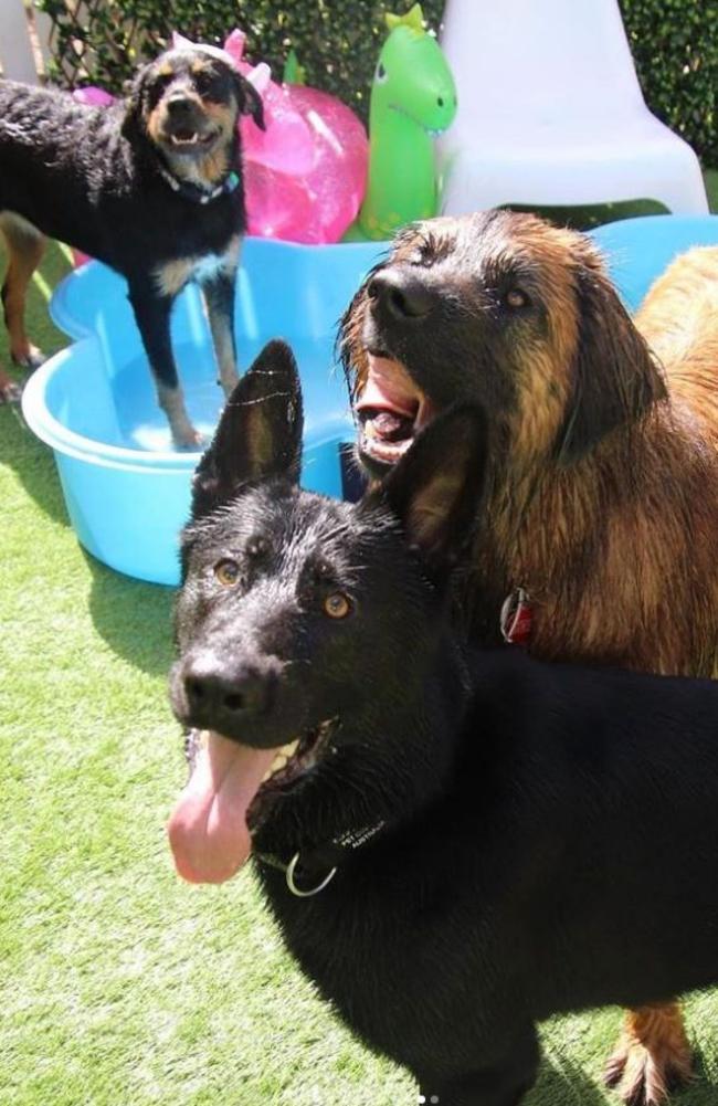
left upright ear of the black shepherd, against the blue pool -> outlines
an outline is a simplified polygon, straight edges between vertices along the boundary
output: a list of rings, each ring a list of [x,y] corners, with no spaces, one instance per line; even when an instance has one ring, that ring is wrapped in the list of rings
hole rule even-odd
[[[298,481],[302,457],[302,392],[285,342],[269,342],[221,414],[192,482],[192,519],[232,499],[248,480]]]

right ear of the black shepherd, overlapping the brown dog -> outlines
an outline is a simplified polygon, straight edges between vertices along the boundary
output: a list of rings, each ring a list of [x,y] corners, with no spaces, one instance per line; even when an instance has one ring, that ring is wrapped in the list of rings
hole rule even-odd
[[[422,431],[382,483],[409,543],[431,567],[449,567],[474,536],[486,484],[487,437],[483,410],[455,405]]]

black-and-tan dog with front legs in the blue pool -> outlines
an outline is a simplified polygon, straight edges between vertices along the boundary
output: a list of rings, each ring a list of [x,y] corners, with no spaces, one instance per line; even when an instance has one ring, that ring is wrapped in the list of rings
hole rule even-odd
[[[12,357],[27,367],[41,359],[23,314],[42,234],[98,258],[127,279],[159,404],[183,447],[199,439],[178,386],[169,316],[192,278],[204,290],[225,392],[237,383],[241,112],[263,125],[252,85],[206,46],[163,54],[138,72],[128,102],[108,109],[0,82],[0,228],[10,254],[2,299]]]

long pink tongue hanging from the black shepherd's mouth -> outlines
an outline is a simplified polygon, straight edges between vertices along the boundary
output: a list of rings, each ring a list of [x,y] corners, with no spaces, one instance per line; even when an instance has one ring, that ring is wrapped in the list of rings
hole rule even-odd
[[[221,884],[241,868],[252,847],[247,810],[275,755],[209,734],[167,826],[180,876]]]

